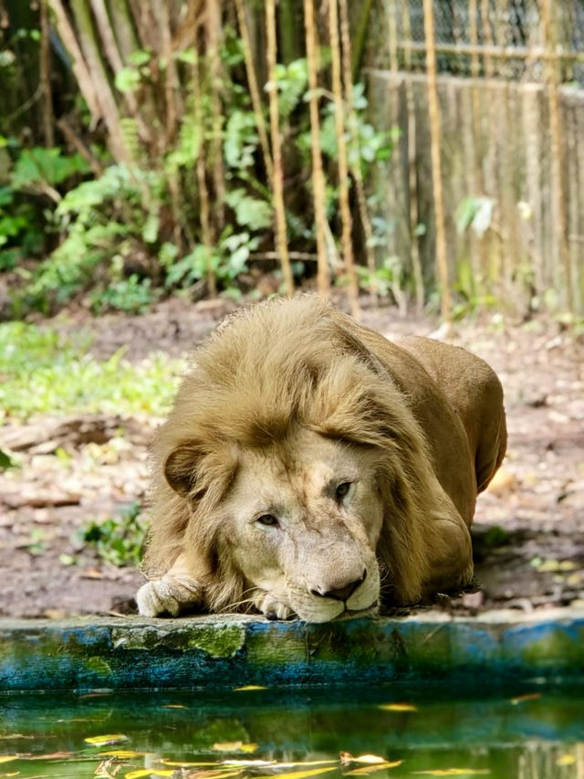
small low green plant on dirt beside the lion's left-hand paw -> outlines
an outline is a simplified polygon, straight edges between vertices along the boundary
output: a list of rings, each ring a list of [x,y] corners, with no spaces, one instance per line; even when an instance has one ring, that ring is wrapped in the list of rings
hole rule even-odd
[[[120,517],[90,521],[80,532],[81,541],[89,543],[101,560],[123,567],[139,565],[148,523],[141,504],[134,500]]]

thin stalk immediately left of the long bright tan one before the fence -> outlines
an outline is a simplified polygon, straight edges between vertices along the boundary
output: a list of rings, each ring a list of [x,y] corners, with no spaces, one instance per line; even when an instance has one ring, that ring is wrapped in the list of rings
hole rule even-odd
[[[401,24],[405,36],[412,35],[412,22],[410,8],[407,0],[401,0]],[[412,54],[405,53],[405,67],[412,68]],[[420,258],[420,246],[418,243],[417,228],[419,220],[418,212],[418,182],[416,171],[416,105],[413,98],[412,82],[405,79],[405,100],[408,112],[408,189],[409,189],[409,213],[410,213],[410,252],[412,256],[413,282],[415,286],[416,311],[420,314],[423,310],[425,289],[423,284],[422,261]]]

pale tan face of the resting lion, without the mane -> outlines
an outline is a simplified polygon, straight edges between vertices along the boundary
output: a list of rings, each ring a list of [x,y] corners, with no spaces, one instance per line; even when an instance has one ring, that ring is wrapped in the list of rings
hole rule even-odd
[[[372,455],[298,428],[245,449],[219,507],[221,547],[245,578],[307,622],[369,608],[379,597],[382,503]]]

